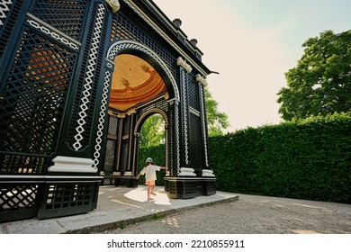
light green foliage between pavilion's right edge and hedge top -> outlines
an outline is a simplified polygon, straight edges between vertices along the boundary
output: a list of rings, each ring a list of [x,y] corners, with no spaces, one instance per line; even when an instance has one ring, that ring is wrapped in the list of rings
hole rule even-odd
[[[212,98],[211,92],[207,88],[204,89],[204,92],[209,136],[223,135],[223,130],[230,126],[228,115],[218,111],[218,103]]]

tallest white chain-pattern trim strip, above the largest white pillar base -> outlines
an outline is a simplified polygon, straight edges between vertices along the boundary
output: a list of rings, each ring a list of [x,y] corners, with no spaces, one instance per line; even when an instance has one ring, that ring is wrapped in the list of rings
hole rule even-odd
[[[73,148],[78,151],[80,148],[82,148],[81,141],[84,139],[83,138],[83,132],[85,131],[84,125],[86,123],[85,117],[87,116],[86,111],[88,110],[88,104],[90,103],[90,95],[91,95],[91,90],[92,90],[92,84],[93,84],[93,78],[94,78],[94,72],[95,72],[95,65],[96,65],[96,60],[97,60],[97,54],[99,51],[99,44],[100,44],[100,37],[101,37],[101,32],[102,32],[102,27],[103,27],[103,14],[104,14],[104,6],[103,4],[99,4],[99,9],[96,17],[96,22],[95,22],[95,28],[94,28],[94,33],[93,33],[93,43],[92,47],[90,49],[90,56],[88,59],[88,66],[87,66],[87,72],[85,74],[85,85],[84,85],[84,91],[83,91],[83,98],[82,98],[82,104],[80,105],[80,112],[78,112],[79,119],[78,119],[78,127],[76,127],[76,136],[74,137],[76,139],[76,142],[73,144]]]

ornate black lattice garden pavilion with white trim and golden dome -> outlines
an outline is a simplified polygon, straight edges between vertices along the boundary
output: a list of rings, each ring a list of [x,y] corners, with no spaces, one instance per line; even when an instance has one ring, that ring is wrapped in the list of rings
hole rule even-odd
[[[139,135],[166,121],[166,191],[215,193],[204,85],[181,21],[151,0],[0,3],[0,222],[92,211],[137,186]]]

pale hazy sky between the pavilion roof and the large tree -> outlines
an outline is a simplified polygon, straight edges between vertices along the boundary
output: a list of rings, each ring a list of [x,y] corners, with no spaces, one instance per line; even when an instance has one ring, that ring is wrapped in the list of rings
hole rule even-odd
[[[302,43],[320,32],[351,29],[351,0],[154,0],[189,40],[198,40],[202,62],[226,131],[278,124],[277,93],[285,73],[303,55]]]

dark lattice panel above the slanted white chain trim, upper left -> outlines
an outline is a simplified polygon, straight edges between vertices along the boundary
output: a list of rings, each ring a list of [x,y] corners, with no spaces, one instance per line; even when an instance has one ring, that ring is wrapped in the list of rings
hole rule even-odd
[[[36,0],[31,14],[71,38],[80,40],[88,4],[88,0]]]

